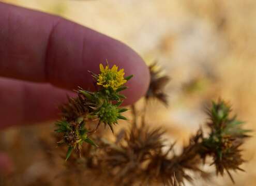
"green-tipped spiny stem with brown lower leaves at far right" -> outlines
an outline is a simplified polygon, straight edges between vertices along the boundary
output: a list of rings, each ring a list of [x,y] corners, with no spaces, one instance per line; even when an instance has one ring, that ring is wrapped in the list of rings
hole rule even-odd
[[[223,175],[224,170],[229,173],[229,169],[239,169],[239,165],[244,162],[241,158],[239,146],[243,144],[247,133],[250,130],[242,129],[244,122],[230,117],[231,107],[222,100],[213,102],[212,108],[208,110],[210,121],[208,127],[210,134],[202,139],[201,156],[212,156],[213,164],[216,166],[217,174]],[[230,174],[229,174],[230,175]],[[233,178],[230,175],[233,181]]]

